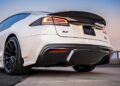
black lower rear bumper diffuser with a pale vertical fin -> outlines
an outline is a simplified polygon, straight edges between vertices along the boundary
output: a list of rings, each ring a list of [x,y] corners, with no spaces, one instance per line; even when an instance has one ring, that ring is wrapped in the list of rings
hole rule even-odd
[[[67,52],[51,52],[58,49]],[[50,44],[43,48],[34,66],[103,64],[109,62],[110,53],[109,47],[98,45]]]

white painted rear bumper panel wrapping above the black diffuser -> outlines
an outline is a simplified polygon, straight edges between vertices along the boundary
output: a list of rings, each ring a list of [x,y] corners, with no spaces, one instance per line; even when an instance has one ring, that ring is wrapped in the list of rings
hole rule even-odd
[[[33,41],[34,39],[34,41]],[[35,35],[19,39],[21,46],[21,54],[24,59],[24,66],[33,65],[40,57],[43,50],[50,47],[57,48],[70,48],[76,49],[82,44],[86,45],[98,45],[111,47],[109,42],[103,42],[98,40],[90,40],[83,38],[68,38],[68,37],[59,37],[58,35]]]

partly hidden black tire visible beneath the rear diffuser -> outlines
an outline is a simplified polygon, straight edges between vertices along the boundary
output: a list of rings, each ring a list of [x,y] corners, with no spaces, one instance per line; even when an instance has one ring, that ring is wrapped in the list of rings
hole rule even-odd
[[[95,68],[95,66],[73,66],[73,69],[77,72],[90,72]]]

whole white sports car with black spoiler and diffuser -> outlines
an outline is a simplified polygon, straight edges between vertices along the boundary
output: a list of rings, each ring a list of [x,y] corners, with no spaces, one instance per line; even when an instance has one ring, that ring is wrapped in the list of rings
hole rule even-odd
[[[13,15],[0,23],[0,66],[8,74],[51,66],[92,71],[109,62],[112,47],[105,26],[102,17],[89,12]]]

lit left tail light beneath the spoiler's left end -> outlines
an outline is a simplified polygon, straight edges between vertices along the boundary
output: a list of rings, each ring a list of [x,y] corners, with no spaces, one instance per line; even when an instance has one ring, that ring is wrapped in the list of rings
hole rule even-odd
[[[67,19],[61,17],[52,17],[52,16],[44,17],[42,19],[42,24],[43,25],[54,24],[54,25],[63,25],[63,26],[69,25]]]

